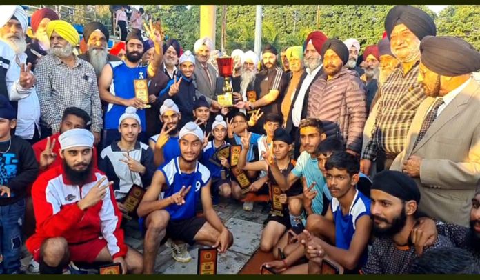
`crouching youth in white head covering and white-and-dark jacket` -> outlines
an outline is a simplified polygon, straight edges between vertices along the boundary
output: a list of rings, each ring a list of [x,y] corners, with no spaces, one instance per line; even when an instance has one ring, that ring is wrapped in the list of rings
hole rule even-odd
[[[127,107],[119,119],[121,139],[114,141],[101,151],[99,169],[113,181],[114,197],[123,213],[128,192],[133,185],[148,188],[152,183],[155,166],[153,152],[146,144],[138,141],[141,121],[137,109]]]

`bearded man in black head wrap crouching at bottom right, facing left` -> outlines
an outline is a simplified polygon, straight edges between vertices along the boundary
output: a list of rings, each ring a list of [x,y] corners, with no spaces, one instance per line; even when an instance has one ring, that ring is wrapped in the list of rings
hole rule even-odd
[[[370,211],[375,241],[363,266],[363,274],[406,274],[417,259],[410,234],[418,221],[420,191],[417,183],[398,171],[383,170],[372,183]],[[453,247],[447,237],[439,235],[433,248]]]

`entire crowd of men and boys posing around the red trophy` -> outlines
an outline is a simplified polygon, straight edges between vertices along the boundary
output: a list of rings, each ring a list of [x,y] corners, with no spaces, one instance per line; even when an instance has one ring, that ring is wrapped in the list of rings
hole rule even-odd
[[[150,21],[117,56],[92,22],[77,55],[53,10],[32,14],[27,43],[26,12],[1,8],[0,274],[21,272],[23,243],[41,274],[153,274],[163,243],[181,262],[187,244],[232,246],[219,199],[265,197],[274,273],[480,273],[480,53],[426,12],[395,6],[365,48],[314,31],[280,53],[234,50],[225,85],[207,37],[183,50]]]

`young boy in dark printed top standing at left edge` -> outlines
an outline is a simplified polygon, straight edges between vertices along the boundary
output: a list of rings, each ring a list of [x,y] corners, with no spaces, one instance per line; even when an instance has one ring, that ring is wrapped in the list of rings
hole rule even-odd
[[[26,189],[39,167],[30,143],[12,136],[17,112],[0,96],[0,274],[19,274]]]

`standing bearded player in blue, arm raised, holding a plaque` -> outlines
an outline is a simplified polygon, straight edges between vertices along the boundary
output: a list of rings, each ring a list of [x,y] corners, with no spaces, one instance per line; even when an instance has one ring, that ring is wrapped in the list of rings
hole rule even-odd
[[[152,79],[157,74],[163,59],[163,34],[153,28],[151,22],[150,28],[146,31],[155,45],[154,59],[148,66],[140,65],[144,48],[143,38],[140,31],[134,29],[126,39],[126,59],[107,63],[101,72],[99,79],[100,97],[108,103],[105,113],[103,147],[109,146],[113,141],[120,139],[119,119],[128,106],[137,109],[143,109],[146,106],[146,102],[139,99],[135,93],[138,89],[137,85],[141,81],[146,82],[146,79]],[[147,123],[145,110],[140,110],[138,115],[143,131],[139,136],[139,141],[145,142],[148,139],[145,134]]]

